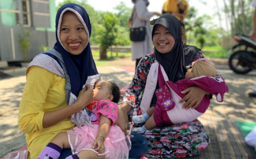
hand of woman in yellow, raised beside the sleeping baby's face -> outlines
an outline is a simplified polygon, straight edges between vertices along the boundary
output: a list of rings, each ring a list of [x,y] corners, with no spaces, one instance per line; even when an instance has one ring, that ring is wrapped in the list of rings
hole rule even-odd
[[[90,85],[86,85],[80,92],[77,97],[77,104],[79,109],[82,110],[88,106],[93,100],[93,91]]]

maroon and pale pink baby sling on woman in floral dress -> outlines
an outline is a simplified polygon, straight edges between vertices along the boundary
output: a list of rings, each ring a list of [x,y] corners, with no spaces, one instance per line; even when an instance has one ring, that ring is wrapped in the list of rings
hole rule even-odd
[[[179,85],[183,85],[185,89],[197,85],[207,92],[217,95],[217,101],[219,102],[223,101],[223,95],[228,91],[228,86],[220,76],[200,76],[192,79],[183,79],[173,83],[168,80],[168,77],[160,64],[156,62],[152,64],[151,68],[152,70],[150,70],[148,74],[140,108],[143,114],[150,108],[151,100],[148,100],[148,98],[151,97],[152,99],[158,79],[160,89],[155,92],[157,101],[154,111],[154,119],[157,126],[164,123],[178,124],[191,122],[201,116],[209,107],[210,100],[204,97],[196,109],[182,109],[185,102],[179,103],[179,101],[186,94],[181,93],[184,89],[181,90]],[[158,75],[158,78],[155,78],[155,75]]]

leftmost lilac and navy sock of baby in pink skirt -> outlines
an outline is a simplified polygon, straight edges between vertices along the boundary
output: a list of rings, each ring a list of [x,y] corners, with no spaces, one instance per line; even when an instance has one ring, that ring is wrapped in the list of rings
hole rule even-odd
[[[46,145],[44,150],[40,153],[38,159],[44,159],[44,158],[58,159],[60,157],[61,151],[62,149],[58,145],[50,142]]]

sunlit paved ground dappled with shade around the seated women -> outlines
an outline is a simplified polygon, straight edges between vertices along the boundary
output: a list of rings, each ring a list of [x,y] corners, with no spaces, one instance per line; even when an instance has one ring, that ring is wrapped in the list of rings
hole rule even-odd
[[[256,72],[238,75],[229,71],[226,59],[214,59],[215,66],[229,86],[224,102],[211,100],[210,108],[204,115],[232,118],[256,122],[256,98],[248,98],[256,83]],[[107,66],[97,67],[102,79],[115,82],[120,88],[130,83],[135,69],[130,58],[110,61]],[[222,71],[221,71],[222,70]],[[225,71],[223,71],[225,70]],[[5,71],[0,74],[0,158],[10,151],[17,150],[26,143],[25,134],[18,129],[18,106],[26,83],[26,69]],[[9,75],[9,76],[8,76]]]

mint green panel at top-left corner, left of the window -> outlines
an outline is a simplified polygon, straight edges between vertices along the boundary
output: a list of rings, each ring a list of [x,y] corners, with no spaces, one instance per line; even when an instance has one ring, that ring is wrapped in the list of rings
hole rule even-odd
[[[0,0],[1,9],[14,9],[13,0]],[[1,24],[5,26],[15,26],[16,25],[16,13],[11,12],[1,12]]]

